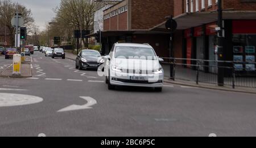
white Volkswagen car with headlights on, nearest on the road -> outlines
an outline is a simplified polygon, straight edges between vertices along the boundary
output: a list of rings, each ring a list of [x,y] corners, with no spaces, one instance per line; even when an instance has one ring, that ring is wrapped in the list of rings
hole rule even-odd
[[[104,74],[109,90],[115,86],[136,86],[162,91],[162,61],[148,44],[115,43],[105,56]]]

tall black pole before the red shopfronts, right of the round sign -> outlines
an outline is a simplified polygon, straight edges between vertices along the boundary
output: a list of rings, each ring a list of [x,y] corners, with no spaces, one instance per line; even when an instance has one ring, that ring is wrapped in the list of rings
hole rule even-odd
[[[218,86],[224,86],[224,62],[222,62],[224,61],[224,28],[222,21],[222,0],[218,0]]]

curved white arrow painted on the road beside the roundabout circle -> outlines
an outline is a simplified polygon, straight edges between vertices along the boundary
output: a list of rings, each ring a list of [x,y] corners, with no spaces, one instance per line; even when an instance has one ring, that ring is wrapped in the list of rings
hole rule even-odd
[[[77,111],[77,110],[81,110],[81,109],[91,109],[92,105],[97,104],[97,101],[95,99],[93,99],[92,97],[90,97],[90,96],[80,96],[80,98],[86,100],[87,103],[84,104],[84,105],[75,105],[75,104],[73,104],[73,105],[70,105],[70,106],[65,107],[63,109],[60,109],[57,112],[67,112],[67,111]]]

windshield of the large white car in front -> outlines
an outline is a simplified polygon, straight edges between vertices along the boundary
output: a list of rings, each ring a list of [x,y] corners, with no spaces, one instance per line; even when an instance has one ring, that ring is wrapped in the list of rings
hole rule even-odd
[[[117,46],[115,58],[156,60],[154,49],[138,46]]]

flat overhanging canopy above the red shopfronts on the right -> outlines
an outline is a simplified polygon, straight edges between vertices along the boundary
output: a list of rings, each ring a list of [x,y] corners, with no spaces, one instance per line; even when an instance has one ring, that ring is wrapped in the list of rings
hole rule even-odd
[[[178,15],[174,18],[177,22],[177,29],[187,29],[191,27],[201,26],[202,24],[208,24],[217,22],[218,12],[193,12]],[[256,19],[256,11],[223,11],[223,19]],[[165,23],[158,24],[151,28],[151,31],[167,31]]]

